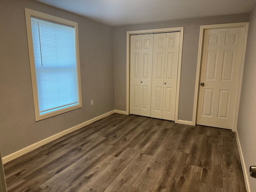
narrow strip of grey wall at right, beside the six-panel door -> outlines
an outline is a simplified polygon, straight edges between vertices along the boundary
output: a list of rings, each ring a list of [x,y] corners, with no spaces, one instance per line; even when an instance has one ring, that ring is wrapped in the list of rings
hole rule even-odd
[[[249,168],[256,165],[256,6],[250,13],[249,31],[244,63],[242,94],[237,132],[246,164],[251,191],[256,191],[256,179]]]

